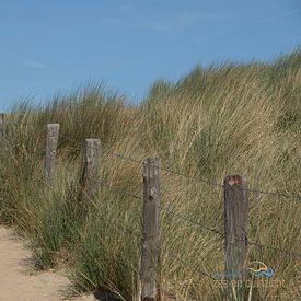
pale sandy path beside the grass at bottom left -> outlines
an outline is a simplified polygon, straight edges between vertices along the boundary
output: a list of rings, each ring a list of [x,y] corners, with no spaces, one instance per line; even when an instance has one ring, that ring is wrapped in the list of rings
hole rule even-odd
[[[58,273],[30,273],[31,267],[26,264],[30,256],[30,251],[12,230],[0,225],[0,301],[62,300],[69,280]],[[96,299],[86,296],[71,300]]]

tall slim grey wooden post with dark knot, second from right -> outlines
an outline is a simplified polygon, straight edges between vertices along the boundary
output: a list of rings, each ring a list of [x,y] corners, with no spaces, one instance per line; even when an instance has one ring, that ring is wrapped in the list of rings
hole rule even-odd
[[[141,300],[159,300],[157,268],[159,259],[160,159],[143,160],[143,236],[141,253]]]

